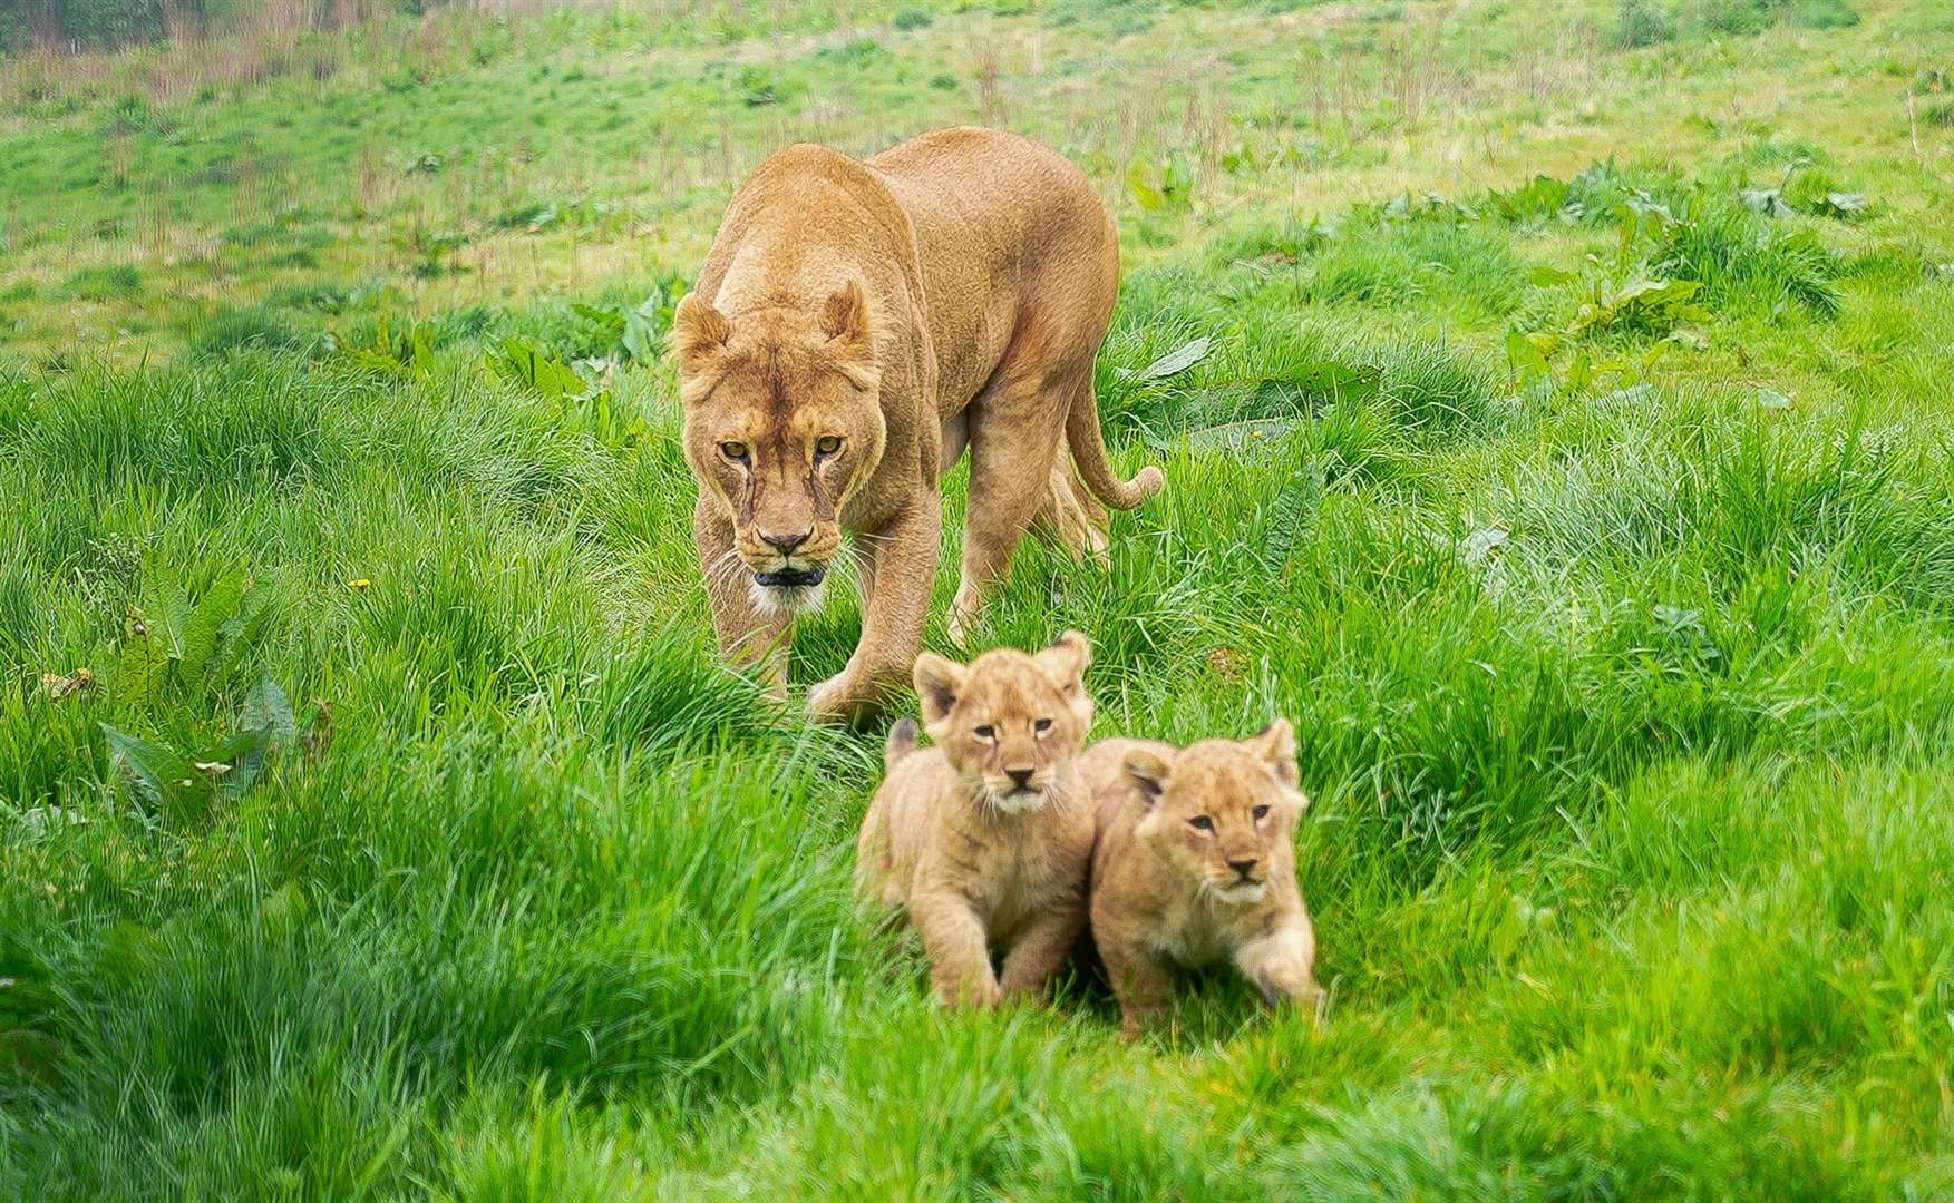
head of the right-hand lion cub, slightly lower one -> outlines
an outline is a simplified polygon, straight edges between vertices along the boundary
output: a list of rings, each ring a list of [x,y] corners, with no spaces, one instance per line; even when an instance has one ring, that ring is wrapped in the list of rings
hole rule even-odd
[[[1161,756],[1126,754],[1143,809],[1133,834],[1208,896],[1260,902],[1309,799],[1297,785],[1296,730],[1276,719],[1249,740],[1202,740]]]

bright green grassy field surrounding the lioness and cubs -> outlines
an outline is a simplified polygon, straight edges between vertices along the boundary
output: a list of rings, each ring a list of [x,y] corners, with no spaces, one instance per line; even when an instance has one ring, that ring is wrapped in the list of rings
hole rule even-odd
[[[0,1197],[1954,1197],[1954,14],[1546,8],[0,59]],[[979,639],[1296,721],[1321,1027],[942,1016],[879,732],[715,662],[670,303],[957,121],[1102,186],[1168,477]]]

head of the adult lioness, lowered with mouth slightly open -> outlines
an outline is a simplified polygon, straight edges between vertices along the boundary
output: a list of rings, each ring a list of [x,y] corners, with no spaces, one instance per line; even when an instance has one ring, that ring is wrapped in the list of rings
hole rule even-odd
[[[854,281],[815,311],[723,314],[698,293],[672,314],[684,445],[700,488],[733,514],[762,607],[819,603],[842,549],[840,512],[887,437],[868,299]],[[707,572],[737,570],[709,564]]]

